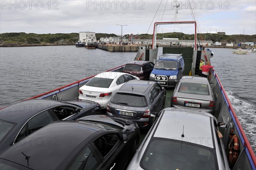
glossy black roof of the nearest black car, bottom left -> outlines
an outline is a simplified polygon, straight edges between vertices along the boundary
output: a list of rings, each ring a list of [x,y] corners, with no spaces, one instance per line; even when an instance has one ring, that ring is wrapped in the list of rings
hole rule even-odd
[[[84,140],[92,140],[94,133],[103,130],[101,126],[86,121],[57,121],[13,145],[1,158],[27,166],[24,153],[30,156],[30,168],[56,169]]]

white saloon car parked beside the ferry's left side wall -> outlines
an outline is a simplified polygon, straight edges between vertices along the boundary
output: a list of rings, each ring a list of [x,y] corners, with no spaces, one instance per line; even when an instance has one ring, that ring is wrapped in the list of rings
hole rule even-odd
[[[140,79],[123,72],[102,72],[79,88],[79,99],[95,101],[105,109],[111,96],[115,95],[123,83],[130,80]]]

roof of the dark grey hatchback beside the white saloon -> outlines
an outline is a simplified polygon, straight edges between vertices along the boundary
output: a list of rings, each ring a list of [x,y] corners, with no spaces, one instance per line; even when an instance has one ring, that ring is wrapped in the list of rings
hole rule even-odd
[[[122,85],[118,92],[133,92],[135,94],[143,94],[147,91],[148,87],[154,83],[154,81],[130,80]]]

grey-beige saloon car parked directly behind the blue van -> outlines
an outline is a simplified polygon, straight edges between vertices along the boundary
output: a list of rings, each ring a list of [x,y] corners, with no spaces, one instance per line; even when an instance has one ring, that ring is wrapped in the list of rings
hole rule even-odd
[[[174,89],[172,107],[190,107],[214,114],[215,97],[207,78],[183,76]]]

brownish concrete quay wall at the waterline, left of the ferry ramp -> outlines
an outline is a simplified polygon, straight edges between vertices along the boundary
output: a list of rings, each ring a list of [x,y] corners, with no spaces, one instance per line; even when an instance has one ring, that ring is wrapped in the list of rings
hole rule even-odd
[[[137,52],[139,49],[139,46],[134,45],[114,45],[114,44],[97,44],[97,49],[102,49],[108,52]]]

